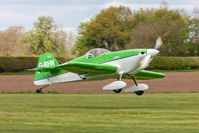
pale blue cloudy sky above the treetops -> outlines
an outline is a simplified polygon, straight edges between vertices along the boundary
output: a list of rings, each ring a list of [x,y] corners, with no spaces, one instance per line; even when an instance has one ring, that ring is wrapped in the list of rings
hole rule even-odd
[[[62,28],[77,33],[80,22],[88,21],[110,6],[131,10],[159,8],[162,0],[0,0],[0,30],[10,26],[31,29],[38,16],[51,16]],[[199,0],[166,0],[170,9],[191,12]]]

